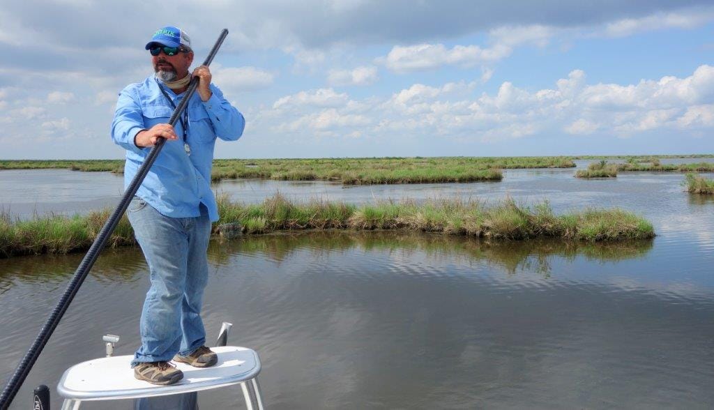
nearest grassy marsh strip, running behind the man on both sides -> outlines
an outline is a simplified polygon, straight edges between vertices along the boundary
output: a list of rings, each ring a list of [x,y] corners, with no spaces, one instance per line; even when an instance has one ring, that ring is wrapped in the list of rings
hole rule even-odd
[[[219,198],[220,224],[240,224],[243,234],[274,231],[349,229],[438,232],[485,239],[523,240],[553,237],[574,241],[647,239],[652,224],[621,209],[587,209],[555,215],[548,203],[528,207],[506,200],[496,204],[461,199],[353,205],[340,202],[288,201],[276,194],[262,204],[236,204]],[[0,215],[0,257],[65,254],[89,249],[110,210],[85,216],[39,216],[19,221]],[[218,233],[220,225],[214,226]],[[110,246],[134,245],[126,216]]]

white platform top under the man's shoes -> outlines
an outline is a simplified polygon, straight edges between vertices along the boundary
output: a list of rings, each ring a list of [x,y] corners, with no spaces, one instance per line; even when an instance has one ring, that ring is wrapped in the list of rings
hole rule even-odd
[[[157,386],[137,380],[130,366],[134,356],[114,356],[70,367],[59,381],[57,391],[64,399],[75,401],[137,399],[231,386],[255,379],[261,371],[258,354],[252,349],[221,346],[211,350],[218,354],[215,366],[199,369],[174,362],[183,371],[183,379],[177,384]]]

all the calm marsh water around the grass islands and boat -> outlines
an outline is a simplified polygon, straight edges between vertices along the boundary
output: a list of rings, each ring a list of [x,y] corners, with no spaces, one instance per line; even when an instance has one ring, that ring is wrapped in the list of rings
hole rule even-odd
[[[61,206],[121,190],[111,174],[51,171],[34,182],[20,174],[8,182],[7,172],[15,171],[0,172],[6,209],[6,198]],[[458,194],[547,199],[556,211],[620,206],[653,221],[658,236],[606,246],[393,233],[214,241],[204,309],[209,339],[221,321],[231,321],[231,343],[258,351],[271,409],[711,409],[714,200],[685,193],[681,174],[583,181],[573,172],[518,170],[495,184],[349,189],[223,182],[216,188],[244,201],[279,189],[296,199],[354,202]],[[86,195],[73,191],[78,182],[71,178],[86,186]],[[95,178],[102,180],[93,184]],[[48,191],[33,200],[40,180]],[[15,194],[8,184],[26,191]],[[58,193],[62,184],[66,192]],[[14,371],[80,259],[0,260],[1,379]],[[116,354],[131,354],[147,282],[138,250],[106,251],[13,408],[29,406],[36,384],[54,387],[66,367],[102,356],[103,334],[119,334]],[[199,394],[203,409],[241,400],[237,389]]]

